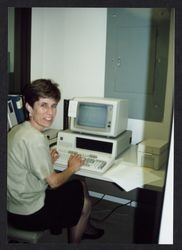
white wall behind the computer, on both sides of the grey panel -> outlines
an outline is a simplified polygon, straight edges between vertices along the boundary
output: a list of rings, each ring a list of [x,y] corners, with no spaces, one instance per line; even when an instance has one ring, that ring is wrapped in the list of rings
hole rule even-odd
[[[74,96],[104,96],[106,8],[32,8],[31,80],[52,78],[62,100]],[[173,30],[172,27],[171,30]],[[174,43],[170,34],[164,120],[129,119],[132,143],[143,138],[168,140],[174,84]],[[63,103],[54,128],[62,128]]]

